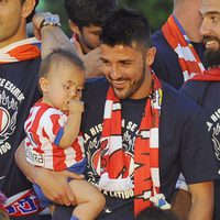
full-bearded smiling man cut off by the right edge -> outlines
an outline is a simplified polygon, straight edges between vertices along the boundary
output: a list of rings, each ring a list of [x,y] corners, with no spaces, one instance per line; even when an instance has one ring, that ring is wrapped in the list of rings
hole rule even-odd
[[[202,0],[204,18],[200,33],[206,45],[205,62],[209,67],[204,75],[187,81],[182,91],[199,103],[207,113],[208,132],[213,143],[220,174],[220,1]],[[220,219],[220,180],[215,183],[215,220]]]

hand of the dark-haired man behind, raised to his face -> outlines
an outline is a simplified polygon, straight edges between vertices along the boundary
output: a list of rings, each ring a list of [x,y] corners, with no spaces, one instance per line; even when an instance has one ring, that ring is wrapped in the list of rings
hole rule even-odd
[[[102,64],[100,61],[100,48],[97,47],[84,54],[79,42],[75,41],[76,52],[78,56],[84,61],[86,67],[86,78],[95,78],[103,75]]]

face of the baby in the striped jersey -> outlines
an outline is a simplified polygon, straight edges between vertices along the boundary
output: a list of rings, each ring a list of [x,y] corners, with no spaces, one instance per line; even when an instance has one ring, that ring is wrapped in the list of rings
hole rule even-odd
[[[68,111],[72,99],[80,100],[84,89],[85,72],[74,65],[62,65],[48,76],[47,97],[53,107]]]

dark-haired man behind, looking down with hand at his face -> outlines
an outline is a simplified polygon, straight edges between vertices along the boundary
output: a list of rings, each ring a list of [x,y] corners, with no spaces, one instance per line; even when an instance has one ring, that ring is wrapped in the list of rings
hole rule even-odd
[[[101,76],[99,34],[103,22],[118,8],[117,0],[65,0],[64,4],[72,42],[85,63],[86,77]]]

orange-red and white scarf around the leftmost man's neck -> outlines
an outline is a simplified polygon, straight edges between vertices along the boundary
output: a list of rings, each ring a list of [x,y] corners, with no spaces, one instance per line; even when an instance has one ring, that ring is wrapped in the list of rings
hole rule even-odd
[[[41,56],[41,43],[35,37],[12,43],[0,48],[0,64],[22,62]]]

